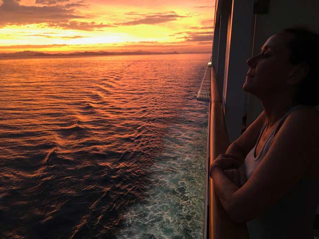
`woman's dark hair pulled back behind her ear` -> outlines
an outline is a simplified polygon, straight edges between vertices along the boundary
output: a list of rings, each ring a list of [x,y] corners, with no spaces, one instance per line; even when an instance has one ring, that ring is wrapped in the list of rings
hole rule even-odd
[[[309,74],[297,87],[294,103],[317,106],[319,104],[319,34],[306,27],[287,28],[282,33],[294,36],[288,42],[290,62],[293,65],[305,63]]]

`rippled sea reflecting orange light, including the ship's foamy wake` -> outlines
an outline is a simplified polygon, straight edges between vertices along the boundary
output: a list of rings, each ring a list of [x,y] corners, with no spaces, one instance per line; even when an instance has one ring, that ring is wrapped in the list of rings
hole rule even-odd
[[[0,59],[0,238],[201,238],[209,57]]]

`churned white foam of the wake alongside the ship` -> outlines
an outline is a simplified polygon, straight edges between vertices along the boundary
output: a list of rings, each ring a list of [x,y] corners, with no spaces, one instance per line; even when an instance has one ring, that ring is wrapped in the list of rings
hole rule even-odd
[[[165,147],[151,168],[153,184],[147,198],[123,215],[126,222],[118,239],[202,237],[205,186],[202,167],[206,148],[198,147],[195,142],[177,146],[174,135],[180,135],[183,129],[180,125],[172,125],[170,129],[172,135],[164,139]],[[199,128],[187,134],[206,142],[205,132]]]

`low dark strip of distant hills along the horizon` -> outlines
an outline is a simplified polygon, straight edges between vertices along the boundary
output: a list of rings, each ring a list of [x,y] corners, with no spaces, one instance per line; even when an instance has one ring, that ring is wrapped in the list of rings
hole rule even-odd
[[[158,54],[194,54],[194,53],[208,53],[208,52],[148,52],[148,51],[132,51],[132,52],[107,52],[107,51],[85,51],[73,53],[43,53],[36,51],[20,51],[15,53],[0,53],[0,57],[41,57],[41,56],[111,56],[111,55],[158,55]]]

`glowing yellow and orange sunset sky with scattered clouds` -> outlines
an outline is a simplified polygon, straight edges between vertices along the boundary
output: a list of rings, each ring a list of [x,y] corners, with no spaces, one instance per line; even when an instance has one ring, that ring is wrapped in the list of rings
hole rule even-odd
[[[0,52],[207,52],[214,2],[0,0]]]

